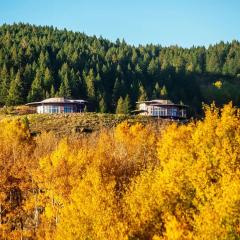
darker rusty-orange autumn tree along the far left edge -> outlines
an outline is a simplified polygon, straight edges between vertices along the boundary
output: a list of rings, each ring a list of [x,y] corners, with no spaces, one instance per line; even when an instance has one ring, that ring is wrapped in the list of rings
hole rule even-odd
[[[21,120],[0,121],[0,239],[20,239],[29,212],[23,209],[31,189],[29,129]],[[29,167],[29,169],[28,169]]]

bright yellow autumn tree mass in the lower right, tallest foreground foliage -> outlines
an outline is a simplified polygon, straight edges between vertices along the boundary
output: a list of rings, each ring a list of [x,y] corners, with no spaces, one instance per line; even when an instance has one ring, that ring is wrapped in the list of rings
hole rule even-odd
[[[160,166],[125,194],[133,239],[240,238],[240,112],[228,104],[205,114],[169,126],[158,141]]]

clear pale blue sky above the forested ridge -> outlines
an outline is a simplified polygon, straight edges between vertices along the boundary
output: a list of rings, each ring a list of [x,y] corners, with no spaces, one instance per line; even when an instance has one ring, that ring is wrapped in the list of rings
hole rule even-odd
[[[0,24],[53,25],[129,44],[240,40],[240,0],[0,0]]]

